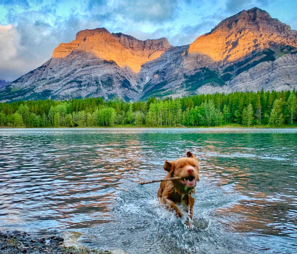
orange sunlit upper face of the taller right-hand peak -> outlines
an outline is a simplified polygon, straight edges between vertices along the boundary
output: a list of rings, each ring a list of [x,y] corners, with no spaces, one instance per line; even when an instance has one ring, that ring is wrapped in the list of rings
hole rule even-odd
[[[198,37],[188,51],[225,64],[280,46],[297,48],[296,31],[272,19],[266,11],[253,8],[221,21],[210,33]]]

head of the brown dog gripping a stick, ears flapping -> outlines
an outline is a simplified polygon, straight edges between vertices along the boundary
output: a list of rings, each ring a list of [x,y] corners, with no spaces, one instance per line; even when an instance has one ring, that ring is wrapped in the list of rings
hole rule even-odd
[[[191,152],[187,152],[187,158],[180,158],[172,162],[165,160],[163,168],[172,177],[181,177],[181,179],[176,181],[184,190],[193,189],[196,186],[196,182],[199,181],[198,161]]]

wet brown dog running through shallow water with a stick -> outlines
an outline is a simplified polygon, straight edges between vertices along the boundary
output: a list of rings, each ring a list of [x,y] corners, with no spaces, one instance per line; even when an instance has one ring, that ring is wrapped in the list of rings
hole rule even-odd
[[[172,162],[165,160],[163,168],[168,171],[164,177],[182,177],[181,179],[162,181],[158,190],[158,200],[167,210],[175,211],[177,217],[189,214],[193,219],[195,186],[199,180],[199,165],[196,157],[187,152],[187,158]],[[187,224],[189,225],[189,217]]]

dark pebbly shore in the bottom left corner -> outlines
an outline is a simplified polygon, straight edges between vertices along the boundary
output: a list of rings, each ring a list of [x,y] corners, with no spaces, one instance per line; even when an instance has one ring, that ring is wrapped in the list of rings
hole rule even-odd
[[[109,251],[89,250],[86,247],[63,246],[59,236],[31,236],[26,232],[0,232],[1,254],[111,254]]]

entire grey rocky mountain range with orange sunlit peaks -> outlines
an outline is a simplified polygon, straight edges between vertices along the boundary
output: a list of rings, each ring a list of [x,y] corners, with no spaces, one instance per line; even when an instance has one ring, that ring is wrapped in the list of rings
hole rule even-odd
[[[297,31],[255,7],[184,46],[105,28],[80,31],[41,67],[1,89],[0,100],[103,96],[136,101],[262,88],[297,88]]]

